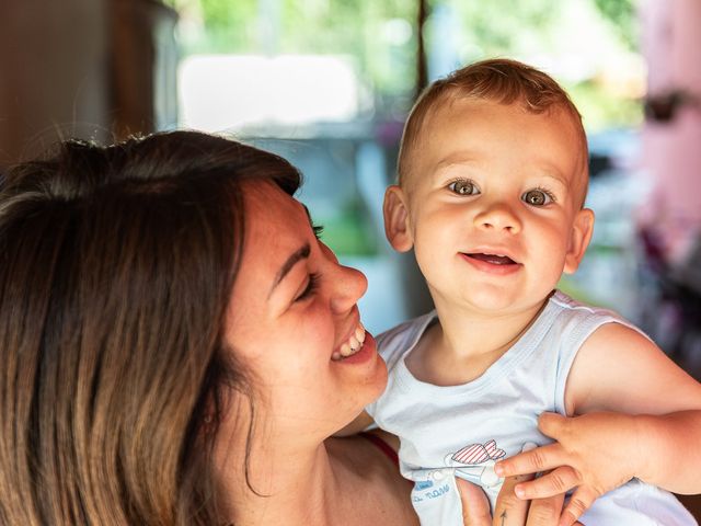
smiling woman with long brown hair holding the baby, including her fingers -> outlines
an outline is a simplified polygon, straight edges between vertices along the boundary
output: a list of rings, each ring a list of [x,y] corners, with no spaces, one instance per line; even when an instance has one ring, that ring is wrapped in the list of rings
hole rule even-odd
[[[299,179],[184,132],[10,171],[0,524],[415,524],[377,438],[329,438],[387,373]],[[495,524],[522,524],[509,496]]]

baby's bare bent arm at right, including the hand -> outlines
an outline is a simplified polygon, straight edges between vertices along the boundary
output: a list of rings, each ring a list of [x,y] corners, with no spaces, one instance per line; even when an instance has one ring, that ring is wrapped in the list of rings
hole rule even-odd
[[[636,331],[610,323],[585,342],[565,404],[578,416],[545,414],[539,422],[556,443],[497,464],[501,476],[554,469],[519,484],[519,496],[576,487],[565,512],[578,518],[633,477],[677,493],[701,492],[701,385]]]

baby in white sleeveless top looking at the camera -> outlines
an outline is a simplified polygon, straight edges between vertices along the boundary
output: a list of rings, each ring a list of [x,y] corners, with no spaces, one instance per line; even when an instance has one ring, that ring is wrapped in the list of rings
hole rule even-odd
[[[414,249],[436,310],[378,338],[389,384],[355,428],[400,437],[423,525],[462,524],[455,477],[494,506],[502,477],[548,469],[516,493],[574,489],[562,524],[697,524],[657,487],[701,491],[701,385],[555,289],[591,237],[587,157],[566,93],[514,60],[458,70],[412,110],[386,233]]]

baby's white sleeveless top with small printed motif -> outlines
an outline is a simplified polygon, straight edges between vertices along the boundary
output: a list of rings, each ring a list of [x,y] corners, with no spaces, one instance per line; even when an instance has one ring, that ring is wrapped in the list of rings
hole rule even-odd
[[[404,362],[436,321],[436,312],[429,312],[378,336],[389,381],[367,411],[378,426],[400,437],[400,469],[414,481],[412,500],[422,525],[461,526],[455,477],[480,484],[494,507],[502,485],[495,461],[526,445],[551,442],[538,431],[538,415],[565,414],[565,382],[584,341],[605,323],[635,328],[609,310],[555,291],[526,333],[482,376],[444,387],[417,380]],[[586,526],[697,524],[670,493],[637,479],[599,498],[581,521]]]

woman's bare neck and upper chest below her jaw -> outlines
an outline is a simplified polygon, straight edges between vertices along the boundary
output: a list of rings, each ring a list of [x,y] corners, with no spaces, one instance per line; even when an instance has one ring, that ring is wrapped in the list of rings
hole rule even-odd
[[[229,468],[222,472],[228,521],[237,526],[325,526],[338,524],[338,517],[348,526],[417,524],[411,484],[369,441],[329,438],[307,450],[277,451],[263,459],[251,453],[250,482],[255,491],[246,484],[242,458],[217,460],[218,466]]]

